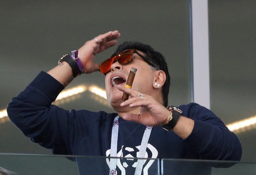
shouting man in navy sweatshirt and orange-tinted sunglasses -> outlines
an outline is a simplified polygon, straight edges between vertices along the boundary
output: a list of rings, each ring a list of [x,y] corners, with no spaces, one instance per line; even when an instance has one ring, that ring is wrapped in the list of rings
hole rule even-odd
[[[54,154],[240,160],[237,136],[210,110],[195,103],[166,108],[170,78],[161,53],[149,45],[125,42],[112,58],[100,66],[95,63],[95,55],[115,45],[119,37],[118,31],[99,35],[73,52],[74,59],[66,55],[58,66],[41,72],[8,105],[10,120]],[[137,72],[129,89],[124,85],[132,67]],[[51,105],[75,76],[99,70],[105,74],[108,102],[117,113],[69,112]],[[130,96],[124,102],[123,92]],[[85,159],[75,161],[80,174],[106,173]],[[152,163],[107,160],[110,174],[148,174]]]

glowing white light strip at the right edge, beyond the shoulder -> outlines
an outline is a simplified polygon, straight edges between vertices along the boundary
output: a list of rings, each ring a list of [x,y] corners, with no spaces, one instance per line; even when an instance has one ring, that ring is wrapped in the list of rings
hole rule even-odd
[[[245,120],[240,120],[240,121],[231,123],[231,124],[227,125],[227,127],[230,131],[236,131],[236,130],[239,130],[239,129],[242,129],[242,128],[245,128],[245,127],[248,127],[248,126],[251,126],[254,124],[256,124],[256,116],[250,117]]]

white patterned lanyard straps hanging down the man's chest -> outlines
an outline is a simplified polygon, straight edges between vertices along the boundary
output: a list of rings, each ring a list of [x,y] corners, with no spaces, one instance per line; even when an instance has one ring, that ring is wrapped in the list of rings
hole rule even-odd
[[[110,156],[111,157],[117,157],[117,140],[118,140],[118,128],[119,128],[119,116],[116,116],[113,122],[112,127],[112,134],[111,134],[111,146],[110,146]],[[141,144],[140,144],[140,151],[138,158],[144,158],[147,145],[148,145],[148,139],[150,136],[150,133],[152,131],[153,127],[146,127]],[[143,168],[144,159],[138,159],[137,165],[135,169],[135,175],[140,175]],[[117,158],[110,158],[110,167],[109,167],[109,175],[116,175],[116,164],[117,164]]]

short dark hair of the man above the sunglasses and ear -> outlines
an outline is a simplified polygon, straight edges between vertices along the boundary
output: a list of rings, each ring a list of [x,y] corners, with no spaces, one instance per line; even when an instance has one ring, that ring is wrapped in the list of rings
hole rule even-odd
[[[164,73],[166,75],[166,81],[162,87],[162,96],[163,96],[164,106],[167,107],[168,106],[168,93],[169,93],[169,87],[170,87],[170,75],[168,72],[167,63],[165,62],[164,56],[160,52],[155,51],[150,45],[142,44],[140,42],[134,42],[134,41],[126,41],[126,42],[120,44],[116,48],[116,50],[113,52],[112,56],[115,56],[124,50],[133,49],[133,48],[145,53],[145,58],[148,61],[150,61],[153,65],[155,65],[155,68],[157,70],[164,71]]]

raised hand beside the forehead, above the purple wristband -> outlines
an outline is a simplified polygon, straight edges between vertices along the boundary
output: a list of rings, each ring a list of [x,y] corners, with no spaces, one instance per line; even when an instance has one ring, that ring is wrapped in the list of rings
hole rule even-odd
[[[84,73],[92,73],[99,70],[99,65],[94,61],[95,55],[117,44],[115,39],[119,38],[120,35],[117,30],[110,31],[97,36],[97,42],[95,39],[89,40],[78,49],[78,57],[84,66]]]

